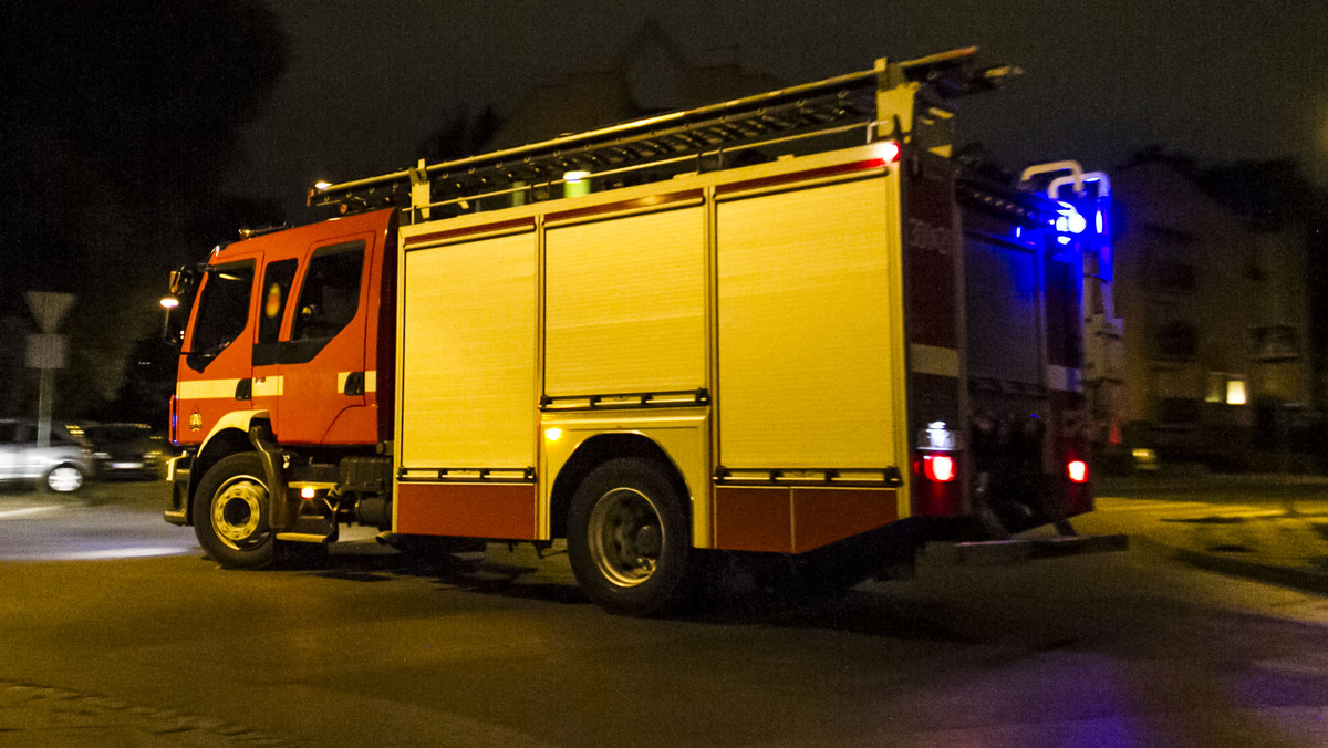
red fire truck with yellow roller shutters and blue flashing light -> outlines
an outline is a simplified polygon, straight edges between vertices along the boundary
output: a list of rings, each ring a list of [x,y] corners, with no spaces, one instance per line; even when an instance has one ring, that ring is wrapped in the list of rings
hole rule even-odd
[[[1093,506],[1093,221],[1052,174],[952,159],[954,102],[1013,72],[879,60],[319,183],[333,218],[171,276],[166,521],[231,569],[349,523],[566,542],[631,615],[716,559],[846,585],[919,551],[1122,547],[1068,521]]]

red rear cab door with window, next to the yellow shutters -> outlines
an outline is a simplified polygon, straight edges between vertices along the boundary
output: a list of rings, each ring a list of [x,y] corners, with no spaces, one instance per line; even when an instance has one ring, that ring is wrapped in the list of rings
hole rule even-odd
[[[305,255],[280,343],[278,372],[284,444],[373,444],[376,429],[339,426],[365,408],[368,262],[374,234],[315,243]]]

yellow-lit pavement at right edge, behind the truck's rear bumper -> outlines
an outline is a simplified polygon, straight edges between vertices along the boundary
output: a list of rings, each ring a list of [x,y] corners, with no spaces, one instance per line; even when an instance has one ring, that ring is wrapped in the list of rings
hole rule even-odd
[[[1085,533],[1194,566],[1328,594],[1328,476],[1173,470],[1101,481]]]

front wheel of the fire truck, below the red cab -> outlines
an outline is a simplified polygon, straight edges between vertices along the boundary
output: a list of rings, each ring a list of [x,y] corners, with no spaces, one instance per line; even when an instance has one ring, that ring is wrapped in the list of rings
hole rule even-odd
[[[262,569],[272,563],[276,546],[267,513],[263,460],[252,452],[231,454],[212,465],[198,485],[194,534],[207,555],[226,569]]]

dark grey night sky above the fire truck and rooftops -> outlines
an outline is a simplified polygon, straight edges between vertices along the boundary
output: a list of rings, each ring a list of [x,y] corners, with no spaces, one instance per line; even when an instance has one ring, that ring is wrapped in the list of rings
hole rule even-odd
[[[803,82],[964,45],[1025,74],[961,132],[1009,166],[1100,169],[1161,143],[1207,159],[1299,155],[1328,183],[1328,3],[1106,0],[283,0],[291,62],[234,187],[290,203],[316,179],[405,166],[459,105],[510,108],[612,66],[648,17],[693,62]],[[964,126],[967,124],[967,128]],[[968,140],[965,138],[965,140]]]

